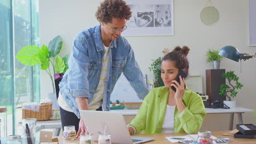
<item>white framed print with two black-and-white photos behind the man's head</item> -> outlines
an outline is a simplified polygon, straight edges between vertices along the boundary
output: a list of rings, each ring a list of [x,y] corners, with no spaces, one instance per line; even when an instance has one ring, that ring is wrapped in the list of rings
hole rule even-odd
[[[173,0],[125,0],[132,16],[122,35],[173,35]]]

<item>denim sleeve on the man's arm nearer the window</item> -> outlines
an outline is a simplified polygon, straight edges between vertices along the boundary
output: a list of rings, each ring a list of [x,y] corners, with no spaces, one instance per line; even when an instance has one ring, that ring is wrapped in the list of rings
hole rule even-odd
[[[69,58],[68,84],[73,97],[89,97],[88,45],[84,36],[75,37]]]

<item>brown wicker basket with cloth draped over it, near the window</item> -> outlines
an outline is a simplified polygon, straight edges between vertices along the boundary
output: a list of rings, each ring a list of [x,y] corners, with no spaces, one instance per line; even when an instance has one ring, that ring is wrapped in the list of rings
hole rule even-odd
[[[51,109],[53,103],[40,104],[39,112],[22,109],[22,119],[36,118],[37,121],[46,121],[51,118]]]

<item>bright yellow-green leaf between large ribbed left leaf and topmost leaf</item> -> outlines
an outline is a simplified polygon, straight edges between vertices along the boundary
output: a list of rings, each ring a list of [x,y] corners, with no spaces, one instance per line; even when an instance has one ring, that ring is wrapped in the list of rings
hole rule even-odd
[[[48,58],[49,50],[46,45],[43,45],[41,49],[38,50],[38,55],[40,59],[40,69],[45,70],[49,68],[50,59]]]

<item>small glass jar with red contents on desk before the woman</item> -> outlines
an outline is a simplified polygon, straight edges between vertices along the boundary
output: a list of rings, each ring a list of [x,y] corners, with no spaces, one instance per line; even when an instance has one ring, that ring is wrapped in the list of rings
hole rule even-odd
[[[213,144],[211,131],[199,131],[197,135],[198,144]]]

